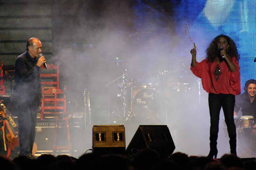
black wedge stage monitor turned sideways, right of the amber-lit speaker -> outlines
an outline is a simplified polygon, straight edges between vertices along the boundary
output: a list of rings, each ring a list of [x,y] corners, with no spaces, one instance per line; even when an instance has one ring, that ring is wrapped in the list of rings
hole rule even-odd
[[[166,125],[140,125],[126,149],[127,155],[134,155],[138,150],[151,148],[162,157],[172,154],[175,145]]]

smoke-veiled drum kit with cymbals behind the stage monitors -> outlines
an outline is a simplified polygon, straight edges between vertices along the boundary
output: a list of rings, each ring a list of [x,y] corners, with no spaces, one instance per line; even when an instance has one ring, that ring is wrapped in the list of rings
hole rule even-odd
[[[111,117],[113,120],[111,120],[111,122],[119,124],[131,122],[158,124],[160,109],[163,108],[164,103],[166,103],[164,101],[166,93],[163,87],[172,88],[176,92],[188,92],[190,90],[188,83],[177,83],[173,78],[171,78],[171,82],[167,80],[166,85],[166,75],[168,71],[159,73],[156,83],[153,84],[138,83],[136,79],[131,78],[127,74],[123,74],[114,80],[122,79],[122,81],[118,83],[118,88],[121,93],[117,94],[117,96],[120,97],[119,100],[122,101],[121,105],[112,112]],[[165,84],[161,82],[161,76],[165,76]],[[159,84],[161,84],[161,86],[159,86]]]

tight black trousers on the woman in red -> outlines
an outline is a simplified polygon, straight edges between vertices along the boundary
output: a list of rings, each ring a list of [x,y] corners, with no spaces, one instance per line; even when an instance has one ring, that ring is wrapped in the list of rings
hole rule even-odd
[[[236,125],[234,123],[235,95],[209,93],[209,110],[211,118],[210,147],[217,148],[219,132],[220,109],[223,108],[227,124],[231,153],[236,151]]]

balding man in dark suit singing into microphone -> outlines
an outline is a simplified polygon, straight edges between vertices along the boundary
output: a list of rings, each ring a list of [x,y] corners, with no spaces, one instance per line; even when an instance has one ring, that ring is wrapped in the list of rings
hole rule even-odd
[[[17,57],[14,65],[12,113],[18,116],[20,155],[33,158],[36,115],[42,96],[40,67],[46,61],[44,56],[36,58],[42,53],[42,44],[37,38],[28,40],[26,50]]]

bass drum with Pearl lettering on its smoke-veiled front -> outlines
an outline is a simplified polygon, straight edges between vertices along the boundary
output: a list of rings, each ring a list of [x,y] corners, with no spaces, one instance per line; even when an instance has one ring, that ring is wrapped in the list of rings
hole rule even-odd
[[[138,124],[158,124],[160,96],[155,89],[145,88],[138,91],[132,98],[131,113],[128,122]]]

